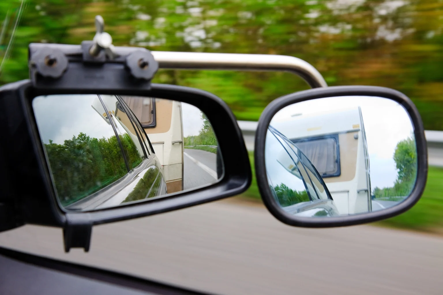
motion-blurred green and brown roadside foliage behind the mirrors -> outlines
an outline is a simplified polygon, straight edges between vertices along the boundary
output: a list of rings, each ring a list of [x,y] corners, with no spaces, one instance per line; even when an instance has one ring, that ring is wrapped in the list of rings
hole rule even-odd
[[[114,45],[299,57],[329,85],[404,92],[425,129],[443,130],[442,8],[441,0],[2,0],[0,85],[28,77],[30,42],[92,40],[99,14]],[[213,92],[239,120],[257,120],[273,99],[309,88],[289,73],[160,70],[155,82]],[[383,224],[443,227],[441,188],[443,170],[432,168],[420,203]],[[256,186],[245,195],[256,198]]]

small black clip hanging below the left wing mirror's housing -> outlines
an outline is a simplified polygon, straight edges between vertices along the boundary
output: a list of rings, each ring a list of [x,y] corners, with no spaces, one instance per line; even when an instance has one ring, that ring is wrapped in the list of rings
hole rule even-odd
[[[89,252],[92,224],[93,222],[89,218],[85,218],[83,214],[66,214],[66,223],[63,226],[63,242],[66,253],[71,248],[83,248],[85,252]]]

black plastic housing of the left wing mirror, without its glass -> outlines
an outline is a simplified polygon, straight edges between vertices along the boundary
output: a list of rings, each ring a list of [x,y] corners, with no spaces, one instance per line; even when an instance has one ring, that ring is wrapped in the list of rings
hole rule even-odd
[[[123,66],[120,71],[124,71]],[[4,175],[1,180],[3,192],[0,195],[0,215],[4,216],[4,222],[0,224],[0,230],[27,223],[62,227],[66,251],[71,247],[83,247],[87,250],[93,225],[195,206],[237,195],[249,187],[251,169],[241,130],[232,111],[217,96],[194,88],[166,84],[142,83],[136,87],[128,82],[113,89],[93,89],[90,85],[82,88],[75,82],[72,82],[70,88],[67,80],[60,87],[51,86],[50,80],[44,81],[47,86],[40,84],[38,88],[30,80],[0,88],[0,118],[5,126],[0,145],[0,151],[4,155],[1,165]],[[142,203],[129,203],[90,212],[62,210],[55,198],[31,101],[36,96],[72,93],[174,98],[198,107],[206,114],[217,134],[224,162],[222,178],[208,187]]]

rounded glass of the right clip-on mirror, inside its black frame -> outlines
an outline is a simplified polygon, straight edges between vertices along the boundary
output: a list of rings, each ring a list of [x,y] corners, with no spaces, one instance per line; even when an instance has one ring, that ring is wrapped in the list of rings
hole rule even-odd
[[[404,201],[415,186],[414,128],[399,103],[342,96],[284,107],[268,126],[265,165],[282,210],[346,216]]]

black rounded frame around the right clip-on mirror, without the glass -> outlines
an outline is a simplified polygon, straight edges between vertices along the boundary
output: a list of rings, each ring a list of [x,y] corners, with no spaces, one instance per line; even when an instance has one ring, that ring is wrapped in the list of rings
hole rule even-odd
[[[414,127],[414,136],[417,146],[417,178],[414,188],[411,194],[403,202],[396,206],[386,208],[380,211],[369,212],[365,214],[349,215],[342,217],[331,218],[308,218],[308,217],[295,217],[286,212],[283,212],[274,198],[272,192],[268,188],[268,180],[266,177],[266,166],[264,160],[264,148],[266,134],[269,123],[273,116],[280,111],[283,107],[286,107],[293,103],[298,103],[306,100],[313,100],[318,98],[335,97],[335,96],[377,96],[387,98],[400,103],[408,112],[409,117],[412,120]],[[427,180],[427,143],[424,135],[423,122],[412,100],[410,100],[403,93],[398,92],[391,88],[378,87],[378,86],[333,86],[327,88],[315,88],[305,91],[291,93],[285,96],[281,96],[276,100],[273,100],[264,109],[260,115],[256,130],[255,146],[254,146],[254,162],[256,169],[256,180],[260,191],[261,198],[264,205],[271,214],[280,220],[281,222],[299,227],[312,227],[312,228],[324,228],[324,227],[338,227],[338,226],[350,226],[362,223],[374,222],[385,218],[393,217],[407,211],[414,206],[421,195],[423,194],[426,180]]]

